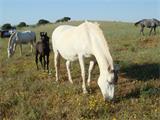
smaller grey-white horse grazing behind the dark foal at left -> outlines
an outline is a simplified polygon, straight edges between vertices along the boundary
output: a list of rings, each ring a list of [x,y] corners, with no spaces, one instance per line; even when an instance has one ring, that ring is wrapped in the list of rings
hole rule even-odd
[[[36,34],[32,31],[24,32],[14,32],[8,41],[8,58],[11,57],[15,50],[17,44],[20,45],[20,54],[22,55],[22,44],[31,44],[31,52],[33,52],[33,47],[36,43]]]

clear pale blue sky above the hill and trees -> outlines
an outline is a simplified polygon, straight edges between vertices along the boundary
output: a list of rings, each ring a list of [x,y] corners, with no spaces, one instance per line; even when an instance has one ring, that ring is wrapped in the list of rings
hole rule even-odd
[[[0,0],[0,25],[36,24],[40,19],[135,22],[160,19],[160,0]]]

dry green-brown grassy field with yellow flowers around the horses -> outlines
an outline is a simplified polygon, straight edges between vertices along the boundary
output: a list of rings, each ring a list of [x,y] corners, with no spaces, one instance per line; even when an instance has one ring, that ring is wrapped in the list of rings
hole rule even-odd
[[[79,25],[81,22],[70,22]],[[116,64],[120,65],[115,100],[104,102],[97,85],[98,66],[92,74],[90,93],[81,89],[78,62],[72,64],[71,85],[64,61],[61,61],[60,82],[55,82],[53,52],[50,71],[36,70],[30,46],[17,47],[7,58],[8,39],[0,38],[0,119],[2,120],[158,120],[160,119],[160,31],[157,35],[139,34],[131,23],[99,22]],[[51,36],[59,24],[19,29],[33,30]],[[51,40],[50,40],[51,41]],[[86,66],[88,66],[86,60]]]

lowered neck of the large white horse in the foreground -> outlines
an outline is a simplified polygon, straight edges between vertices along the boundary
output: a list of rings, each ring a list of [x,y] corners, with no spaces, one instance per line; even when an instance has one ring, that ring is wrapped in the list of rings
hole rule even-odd
[[[93,27],[95,28],[95,29],[89,29],[89,30],[90,30],[90,33],[92,33],[92,35],[90,35],[91,41],[92,41],[91,44],[92,44],[93,54],[96,57],[96,60],[99,65],[100,75],[107,74],[108,68],[110,68],[111,70],[114,69],[113,59],[109,52],[107,41],[105,40],[102,30],[99,28],[97,24],[89,23],[87,25],[92,25],[92,27],[88,27],[88,28],[93,28]]]

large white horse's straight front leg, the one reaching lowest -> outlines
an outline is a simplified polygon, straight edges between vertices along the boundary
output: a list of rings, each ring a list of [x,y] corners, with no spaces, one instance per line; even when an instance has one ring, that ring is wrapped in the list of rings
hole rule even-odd
[[[82,55],[79,55],[79,64],[80,64],[80,68],[81,68],[81,75],[82,75],[82,89],[83,89],[83,93],[88,93],[87,89],[86,89],[86,83],[85,83],[85,65],[84,65],[84,58]]]

